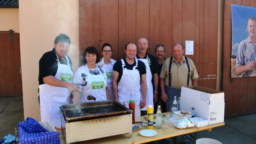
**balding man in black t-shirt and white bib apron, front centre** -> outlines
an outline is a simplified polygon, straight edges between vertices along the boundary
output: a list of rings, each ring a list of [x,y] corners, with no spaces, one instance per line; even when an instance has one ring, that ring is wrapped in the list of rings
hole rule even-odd
[[[126,57],[113,66],[113,94],[115,101],[125,103],[127,108],[129,101],[134,100],[135,117],[139,117],[140,109],[146,105],[146,67],[135,59],[137,47],[134,43],[126,44],[125,54]]]

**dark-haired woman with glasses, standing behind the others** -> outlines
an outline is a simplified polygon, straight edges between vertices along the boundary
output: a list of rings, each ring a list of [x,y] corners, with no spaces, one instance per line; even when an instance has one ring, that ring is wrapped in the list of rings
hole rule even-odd
[[[112,72],[113,65],[116,63],[116,60],[110,58],[112,55],[112,47],[109,43],[104,43],[101,49],[103,58],[97,65],[103,67],[107,74],[107,84],[109,90],[109,98],[110,100],[114,100],[113,90],[112,90]]]

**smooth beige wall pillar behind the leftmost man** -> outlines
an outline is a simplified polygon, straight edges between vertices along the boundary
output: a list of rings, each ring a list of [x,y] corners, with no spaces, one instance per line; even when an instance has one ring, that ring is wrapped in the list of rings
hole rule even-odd
[[[78,1],[19,1],[20,53],[24,117],[40,118],[37,101],[39,59],[52,50],[59,33],[70,36],[73,72],[79,66]]]

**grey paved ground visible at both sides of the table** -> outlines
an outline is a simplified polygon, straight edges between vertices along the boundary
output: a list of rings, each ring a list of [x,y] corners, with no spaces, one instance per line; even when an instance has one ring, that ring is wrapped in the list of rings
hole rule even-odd
[[[14,135],[14,128],[24,120],[23,100],[21,96],[0,97],[0,140],[7,134]],[[247,116],[228,118],[225,126],[213,128],[211,132],[200,131],[197,138],[212,138],[224,143],[255,144],[256,143],[256,113]],[[155,144],[160,141],[155,141]],[[168,144],[174,143],[170,141]],[[182,138],[177,138],[182,143]]]

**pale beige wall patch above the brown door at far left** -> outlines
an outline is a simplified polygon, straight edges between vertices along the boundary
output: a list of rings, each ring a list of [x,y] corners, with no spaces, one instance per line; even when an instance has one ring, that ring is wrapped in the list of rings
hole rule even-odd
[[[0,9],[0,31],[19,33],[19,9]]]

